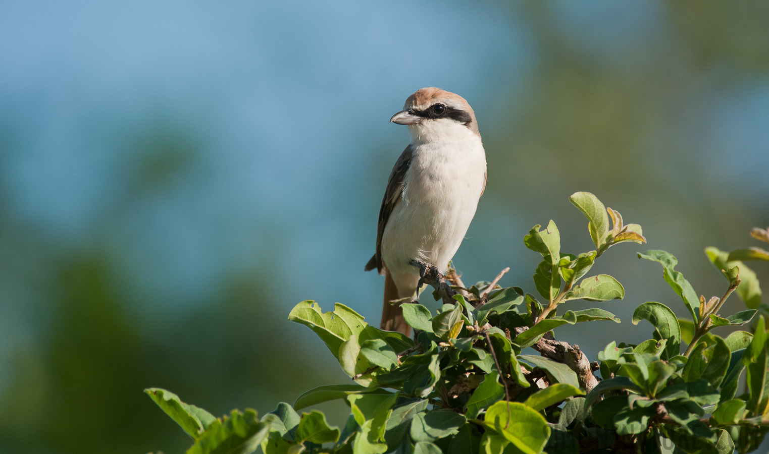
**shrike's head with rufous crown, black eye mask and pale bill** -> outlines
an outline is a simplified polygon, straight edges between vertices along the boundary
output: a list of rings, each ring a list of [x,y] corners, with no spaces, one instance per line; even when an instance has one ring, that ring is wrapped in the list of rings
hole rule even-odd
[[[394,114],[390,121],[407,124],[416,141],[451,139],[468,133],[481,135],[468,101],[435,87],[421,88],[411,94],[403,110]]]

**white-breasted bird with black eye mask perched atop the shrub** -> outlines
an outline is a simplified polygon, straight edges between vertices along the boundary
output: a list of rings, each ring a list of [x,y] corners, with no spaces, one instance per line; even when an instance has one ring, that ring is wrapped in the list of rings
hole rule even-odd
[[[390,121],[408,126],[411,143],[388,178],[365,270],[384,274],[380,328],[409,336],[391,301],[418,297],[414,262],[448,271],[486,187],[486,154],[473,109],[451,91],[421,88]]]

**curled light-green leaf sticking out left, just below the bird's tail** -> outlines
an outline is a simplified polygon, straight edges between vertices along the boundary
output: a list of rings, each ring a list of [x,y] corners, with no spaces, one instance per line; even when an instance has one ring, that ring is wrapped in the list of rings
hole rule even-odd
[[[367,326],[363,317],[341,303],[335,303],[333,312],[322,312],[315,301],[307,300],[298,303],[288,320],[300,323],[310,328],[328,346],[328,350],[338,359],[341,344],[358,336]]]

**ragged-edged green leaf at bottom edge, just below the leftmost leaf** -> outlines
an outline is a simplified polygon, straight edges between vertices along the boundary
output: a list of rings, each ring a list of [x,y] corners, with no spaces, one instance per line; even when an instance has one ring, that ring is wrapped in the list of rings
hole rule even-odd
[[[248,454],[258,448],[269,429],[267,423],[257,419],[255,410],[232,410],[229,416],[208,425],[187,454]]]

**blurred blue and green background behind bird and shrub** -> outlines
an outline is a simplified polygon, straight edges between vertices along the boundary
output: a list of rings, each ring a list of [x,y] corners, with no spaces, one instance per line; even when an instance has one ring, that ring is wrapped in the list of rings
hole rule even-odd
[[[424,86],[467,98],[486,147],[464,281],[510,266],[533,293],[524,234],[554,219],[591,250],[568,201],[591,191],[648,244],[594,267],[625,300],[568,303],[624,322],[559,336],[593,357],[649,339],[638,304],[685,311],[636,252],[721,295],[704,247],[769,225],[767,23],[767,2],[700,0],[3,2],[0,452],[182,452],[148,386],[221,415],[346,383],[286,317],[338,301],[378,325],[363,266],[408,144],[388,119]]]

